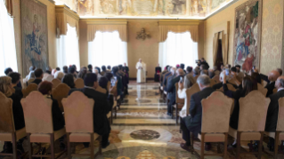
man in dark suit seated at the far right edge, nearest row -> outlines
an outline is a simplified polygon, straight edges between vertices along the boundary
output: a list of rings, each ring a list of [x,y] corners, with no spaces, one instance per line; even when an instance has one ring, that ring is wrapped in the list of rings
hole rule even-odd
[[[275,82],[275,87],[278,90],[277,93],[269,96],[271,102],[269,104],[266,116],[265,131],[275,132],[277,121],[278,121],[278,112],[279,112],[279,103],[278,100],[284,97],[284,76],[280,76]],[[268,147],[271,151],[274,151],[274,139],[269,139]]]

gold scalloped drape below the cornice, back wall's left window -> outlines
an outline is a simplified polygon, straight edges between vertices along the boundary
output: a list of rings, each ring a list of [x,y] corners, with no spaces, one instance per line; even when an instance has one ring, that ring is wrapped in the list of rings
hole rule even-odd
[[[127,25],[87,25],[87,41],[93,42],[96,33],[100,32],[118,32],[119,38],[127,42]]]

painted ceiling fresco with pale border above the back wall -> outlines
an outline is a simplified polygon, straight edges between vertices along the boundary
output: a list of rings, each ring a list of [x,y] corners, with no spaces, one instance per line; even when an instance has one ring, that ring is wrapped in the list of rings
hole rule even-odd
[[[55,0],[81,18],[204,19],[233,0]]]

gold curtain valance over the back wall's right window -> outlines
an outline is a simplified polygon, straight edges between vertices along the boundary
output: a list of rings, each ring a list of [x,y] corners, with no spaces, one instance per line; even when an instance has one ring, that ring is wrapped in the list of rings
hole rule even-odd
[[[168,32],[184,33],[190,32],[193,42],[199,42],[199,20],[159,20],[158,42],[166,41]]]

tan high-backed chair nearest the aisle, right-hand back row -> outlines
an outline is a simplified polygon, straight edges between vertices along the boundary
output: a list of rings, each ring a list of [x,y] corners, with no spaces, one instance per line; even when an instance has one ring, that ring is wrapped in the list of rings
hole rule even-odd
[[[205,155],[221,155],[223,158],[226,157],[232,102],[233,100],[226,97],[221,91],[215,91],[207,99],[202,99],[201,134],[199,133],[199,139],[201,140],[201,159],[204,159]],[[193,142],[193,135],[191,135],[191,141]],[[204,154],[205,142],[223,142],[223,153]]]

